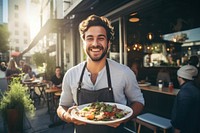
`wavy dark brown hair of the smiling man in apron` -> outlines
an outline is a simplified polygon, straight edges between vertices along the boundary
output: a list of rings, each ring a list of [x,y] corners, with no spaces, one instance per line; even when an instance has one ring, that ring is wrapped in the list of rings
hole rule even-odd
[[[114,28],[111,25],[111,22],[106,17],[99,17],[96,15],[91,15],[87,19],[83,20],[79,25],[79,32],[82,39],[85,39],[85,32],[91,26],[102,26],[106,30],[107,40],[111,41],[114,39]]]

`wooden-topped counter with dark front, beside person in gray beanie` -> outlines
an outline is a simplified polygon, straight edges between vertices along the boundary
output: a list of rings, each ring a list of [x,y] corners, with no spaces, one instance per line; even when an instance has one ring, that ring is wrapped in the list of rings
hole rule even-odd
[[[171,118],[174,99],[179,89],[170,90],[167,87],[159,89],[157,86],[140,86],[145,99],[144,113],[153,113],[166,118]]]

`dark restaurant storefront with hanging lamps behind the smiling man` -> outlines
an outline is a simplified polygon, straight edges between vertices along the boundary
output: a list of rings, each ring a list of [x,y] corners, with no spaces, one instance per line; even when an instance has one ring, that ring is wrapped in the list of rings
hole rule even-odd
[[[66,16],[74,17],[71,31],[75,36],[70,38],[69,45],[76,45],[72,54],[75,58],[71,59],[75,60],[74,64],[84,60],[82,42],[74,29],[91,14],[103,15],[112,21],[115,29],[109,53],[111,59],[128,66],[137,62],[142,68],[141,75],[148,72],[143,78],[150,79],[152,84],[156,84],[159,69],[167,67],[178,87],[176,70],[187,63],[191,55],[200,53],[198,5],[198,0],[82,1]],[[191,32],[193,30],[196,31]],[[66,55],[71,55],[70,51]]]

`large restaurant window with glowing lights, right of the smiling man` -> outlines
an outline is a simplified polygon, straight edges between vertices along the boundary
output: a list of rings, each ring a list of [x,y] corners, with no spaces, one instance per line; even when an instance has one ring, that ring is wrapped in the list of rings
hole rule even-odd
[[[161,0],[130,12],[126,16],[128,63],[180,67],[190,56],[200,56],[197,5],[200,1]]]

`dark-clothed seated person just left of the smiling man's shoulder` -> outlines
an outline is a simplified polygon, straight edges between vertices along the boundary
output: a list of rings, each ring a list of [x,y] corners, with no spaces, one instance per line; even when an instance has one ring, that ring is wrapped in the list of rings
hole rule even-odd
[[[57,66],[55,69],[55,75],[52,76],[51,82],[53,86],[61,88],[63,81],[63,74],[61,72],[61,67]]]

